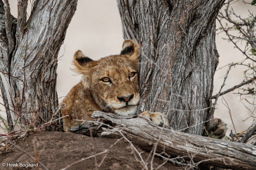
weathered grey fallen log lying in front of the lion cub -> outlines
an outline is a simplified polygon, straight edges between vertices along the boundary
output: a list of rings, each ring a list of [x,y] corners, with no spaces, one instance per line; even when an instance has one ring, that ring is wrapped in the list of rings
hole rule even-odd
[[[171,129],[163,129],[161,135],[162,127],[141,115],[120,117],[111,113],[95,111],[92,117],[93,121],[110,123],[114,127],[111,129],[102,125],[98,132],[93,132],[94,134],[98,133],[101,137],[122,137],[117,132],[119,130],[130,141],[147,150],[151,150],[158,138],[161,137],[156,149],[158,153],[187,156],[184,159],[188,161],[190,161],[190,157],[193,157],[194,162],[204,160],[203,164],[233,170],[256,169],[256,147],[249,144],[228,142]],[[87,135],[90,135],[90,127],[93,127],[91,130],[97,130],[95,127],[98,125],[99,123],[85,125]],[[82,126],[80,126],[81,129]],[[78,127],[73,127],[70,131],[79,133]]]

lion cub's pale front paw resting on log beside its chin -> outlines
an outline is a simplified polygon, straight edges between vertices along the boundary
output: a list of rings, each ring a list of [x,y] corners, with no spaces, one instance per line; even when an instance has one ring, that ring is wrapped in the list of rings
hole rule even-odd
[[[149,112],[148,110],[141,113],[140,115],[147,117],[148,119],[150,119],[153,123],[155,123],[158,126],[163,127],[167,127],[168,126],[168,121],[166,121],[167,123],[165,124],[165,119],[166,116],[163,113],[160,112]]]

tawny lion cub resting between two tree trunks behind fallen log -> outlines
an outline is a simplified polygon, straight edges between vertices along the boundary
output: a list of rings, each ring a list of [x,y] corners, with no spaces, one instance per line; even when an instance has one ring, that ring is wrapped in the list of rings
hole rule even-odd
[[[120,55],[110,55],[93,61],[78,50],[74,54],[75,72],[82,80],[74,86],[62,103],[64,130],[77,126],[76,119],[92,120],[94,111],[116,115],[136,115],[139,103],[139,46],[125,40]],[[141,115],[157,125],[164,123],[165,115],[145,111]]]

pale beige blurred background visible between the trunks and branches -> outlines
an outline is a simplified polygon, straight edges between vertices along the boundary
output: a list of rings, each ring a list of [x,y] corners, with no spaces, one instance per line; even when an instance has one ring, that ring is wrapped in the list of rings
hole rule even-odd
[[[248,2],[251,1],[252,0],[248,0]],[[11,0],[9,3],[11,14],[17,18],[17,1]],[[30,15],[30,1],[28,3],[27,11],[28,15]],[[232,4],[232,6],[234,11],[241,15],[241,17],[248,17],[248,10],[254,13],[256,12],[255,6],[245,4],[242,1]],[[218,22],[217,28],[219,28]],[[232,32],[229,33],[233,34]],[[235,32],[234,35],[239,36]],[[223,79],[228,70],[227,65],[232,62],[241,62],[241,60],[245,58],[238,49],[234,48],[232,43],[223,40],[223,38],[227,38],[226,33],[222,32],[216,35],[216,45],[220,57],[214,77],[213,95],[218,93],[223,84]],[[59,102],[61,102],[69,90],[80,81],[80,76],[76,76],[70,69],[72,68],[71,62],[73,55],[78,49],[93,60],[98,60],[107,55],[119,54],[122,43],[121,19],[116,0],[78,0],[76,13],[69,24],[65,41],[59,52],[60,58],[57,69],[57,92]],[[245,48],[246,42],[241,41],[238,45],[241,48]],[[244,71],[246,69],[245,66],[232,67],[228,74],[226,85],[223,87],[222,91],[241,83],[245,79]],[[247,89],[247,87],[244,88]],[[233,130],[234,133],[234,127],[236,128],[236,132],[247,130],[253,122],[250,115],[252,115],[253,111],[255,113],[254,104],[249,104],[244,100],[244,98],[247,97],[246,99],[253,103],[253,96],[250,98],[248,95],[240,96],[239,94],[233,94],[237,92],[238,90],[236,89],[220,96],[217,102],[215,117],[221,118],[228,124],[228,132],[226,135],[229,135],[230,130]],[[240,90],[240,92],[242,91]],[[229,110],[222,103],[223,98],[225,98],[230,108],[234,127],[230,119],[230,114],[228,113]],[[3,103],[1,99],[0,102]],[[2,110],[0,111],[0,115],[6,118],[6,113],[3,112],[5,111],[4,107],[0,106],[0,109]],[[250,118],[244,121],[248,117]]]

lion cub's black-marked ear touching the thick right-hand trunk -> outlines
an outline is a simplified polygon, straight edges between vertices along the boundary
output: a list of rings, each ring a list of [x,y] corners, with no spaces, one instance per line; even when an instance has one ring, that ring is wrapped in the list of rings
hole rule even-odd
[[[131,62],[137,63],[139,59],[139,45],[133,40],[124,40],[120,55],[128,55]]]

